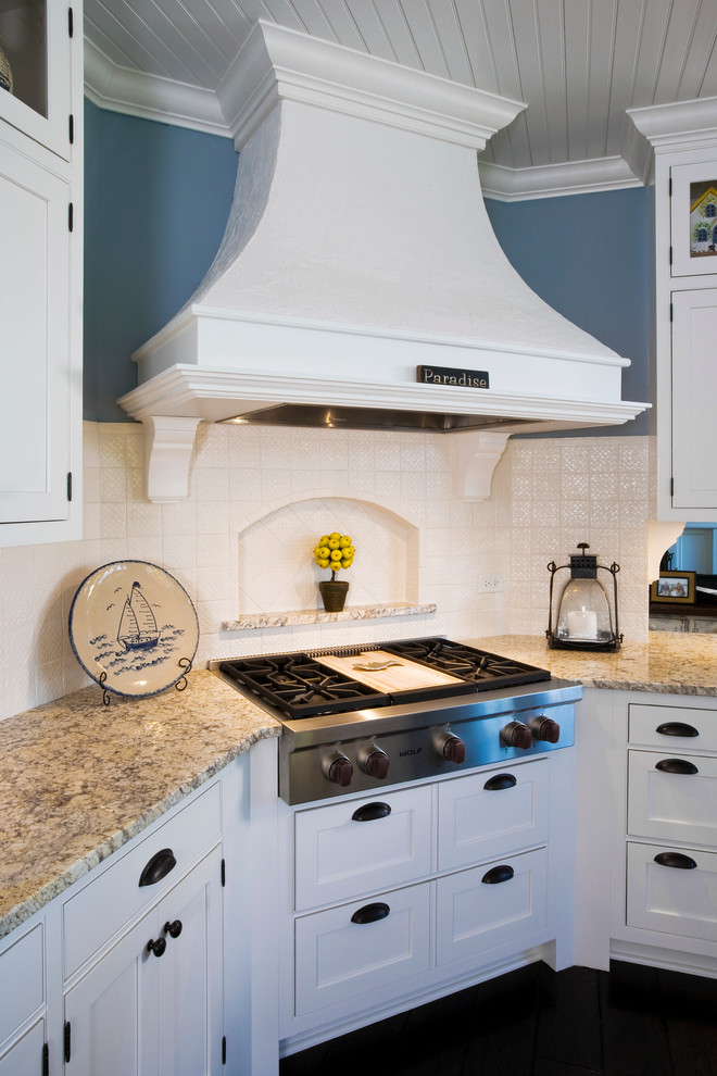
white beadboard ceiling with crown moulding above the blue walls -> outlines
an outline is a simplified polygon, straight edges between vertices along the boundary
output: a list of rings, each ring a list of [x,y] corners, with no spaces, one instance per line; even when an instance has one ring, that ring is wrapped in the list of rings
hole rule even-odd
[[[85,0],[88,97],[228,134],[215,91],[259,18],[526,102],[481,155],[506,200],[642,183],[626,111],[717,96],[717,0]]]

